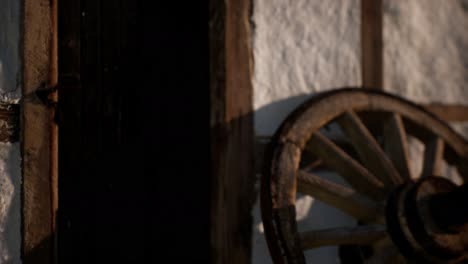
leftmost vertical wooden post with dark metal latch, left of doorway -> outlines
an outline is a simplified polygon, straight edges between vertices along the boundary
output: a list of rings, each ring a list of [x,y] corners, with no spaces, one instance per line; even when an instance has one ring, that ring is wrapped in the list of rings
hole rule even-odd
[[[51,111],[38,96],[55,83],[54,2],[23,0],[22,260],[52,262]]]

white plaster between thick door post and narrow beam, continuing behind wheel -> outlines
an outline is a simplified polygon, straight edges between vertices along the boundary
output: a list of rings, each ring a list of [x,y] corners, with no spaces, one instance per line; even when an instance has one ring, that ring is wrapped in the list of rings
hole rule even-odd
[[[272,135],[311,94],[361,85],[359,0],[254,0],[253,23],[257,135]],[[297,208],[300,230],[350,224],[311,197],[299,198]],[[271,263],[258,202],[253,215],[253,263]],[[306,257],[336,263],[336,248],[308,251]]]

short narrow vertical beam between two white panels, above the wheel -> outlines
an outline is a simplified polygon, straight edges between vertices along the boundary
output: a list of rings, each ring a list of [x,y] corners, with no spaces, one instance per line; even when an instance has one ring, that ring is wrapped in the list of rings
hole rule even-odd
[[[382,0],[361,0],[362,81],[383,90]]]

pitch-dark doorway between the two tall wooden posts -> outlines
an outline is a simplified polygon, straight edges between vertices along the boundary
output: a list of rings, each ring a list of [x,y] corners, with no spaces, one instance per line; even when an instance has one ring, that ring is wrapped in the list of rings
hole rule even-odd
[[[207,11],[60,1],[59,263],[209,262]]]

